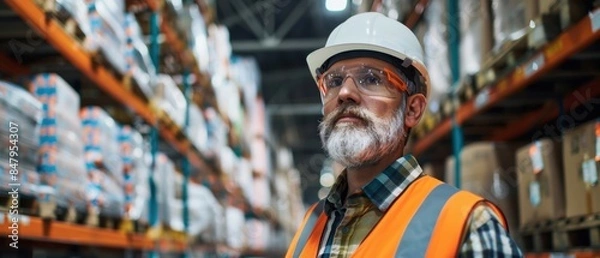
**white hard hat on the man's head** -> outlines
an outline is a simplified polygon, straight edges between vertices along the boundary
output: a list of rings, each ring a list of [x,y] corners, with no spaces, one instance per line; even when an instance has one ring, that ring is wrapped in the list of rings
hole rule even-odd
[[[315,82],[317,69],[329,58],[348,51],[367,50],[390,55],[403,60],[419,71],[430,92],[430,80],[423,63],[423,48],[415,34],[404,24],[377,12],[354,15],[338,25],[329,34],[325,47],[310,53],[306,58]]]

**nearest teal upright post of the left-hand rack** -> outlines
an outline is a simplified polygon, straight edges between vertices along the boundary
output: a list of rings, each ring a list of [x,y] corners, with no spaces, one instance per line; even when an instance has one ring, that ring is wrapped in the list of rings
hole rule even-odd
[[[152,58],[152,62],[154,63],[154,67],[156,67],[156,72],[159,71],[160,65],[160,45],[158,44],[158,34],[159,34],[159,26],[160,23],[160,14],[158,11],[153,11],[150,14],[150,58]],[[156,156],[158,153],[158,125],[152,125],[151,129],[151,151],[152,151],[152,166],[150,170],[150,209],[148,212],[148,222],[150,227],[155,227],[159,223],[159,207],[158,207],[158,199],[156,193],[156,184],[154,183],[154,175],[156,170]],[[158,258],[158,252],[156,250],[152,250],[149,253],[150,258]]]

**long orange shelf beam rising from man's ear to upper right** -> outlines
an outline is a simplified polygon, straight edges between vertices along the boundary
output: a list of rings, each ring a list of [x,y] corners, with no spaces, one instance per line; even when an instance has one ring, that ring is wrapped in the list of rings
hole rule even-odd
[[[600,30],[594,31],[592,28],[591,16],[586,16],[582,21],[561,33],[557,39],[544,46],[538,55],[534,56],[529,62],[525,62],[523,65],[517,67],[508,76],[501,79],[494,87],[489,88],[489,91],[484,90],[489,93],[487,102],[480,106],[476,106],[475,99],[472,99],[463,104],[455,114],[456,122],[462,124],[506,97],[525,89],[540,76],[548,73],[567,58],[591,45],[599,38]],[[526,76],[525,73],[530,69],[528,66],[531,64],[531,61],[539,58],[540,55],[544,57],[544,64],[541,67],[536,67],[536,70],[533,70],[529,76]],[[429,135],[420,139],[415,144],[413,153],[415,155],[423,153],[436,141],[446,136],[450,132],[450,125],[451,119],[446,119],[442,122],[442,124],[433,129]]]

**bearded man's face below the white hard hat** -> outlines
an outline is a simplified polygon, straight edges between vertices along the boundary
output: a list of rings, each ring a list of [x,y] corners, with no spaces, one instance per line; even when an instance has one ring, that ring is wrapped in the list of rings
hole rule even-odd
[[[362,65],[395,71],[392,65],[373,58],[339,61],[328,71]],[[372,165],[395,154],[404,135],[406,93],[365,94],[356,79],[345,78],[336,95],[323,104],[324,119],[319,125],[323,147],[346,167]]]

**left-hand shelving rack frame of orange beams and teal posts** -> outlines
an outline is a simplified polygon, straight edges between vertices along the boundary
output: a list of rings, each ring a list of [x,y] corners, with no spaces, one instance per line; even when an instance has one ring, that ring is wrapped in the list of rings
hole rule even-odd
[[[151,10],[151,46],[150,52],[153,62],[158,71],[160,46],[158,45],[158,31],[161,30],[165,35],[166,42],[175,49],[180,57],[184,57],[187,45],[182,42],[176,35],[176,32],[166,22],[160,22],[161,4],[157,0],[145,0],[145,3]],[[190,165],[200,171],[206,173],[215,173],[206,164],[206,159],[202,154],[191,145],[190,141],[182,135],[184,128],[173,129],[173,126],[167,126],[169,118],[162,117],[153,108],[146,103],[141,97],[135,95],[125,87],[124,82],[117,79],[107,67],[98,66],[93,62],[93,55],[86,52],[83,46],[72,38],[58,21],[48,19],[42,8],[40,8],[33,0],[7,0],[6,4],[12,8],[24,21],[34,28],[50,45],[52,45],[66,60],[76,67],[83,75],[91,80],[98,88],[105,91],[117,102],[129,108],[137,116],[141,117],[147,124],[152,125],[152,152],[156,156],[158,151],[158,135],[163,140],[168,142],[183,159],[183,175],[184,182],[190,181]],[[6,58],[0,58],[6,59]],[[186,60],[185,58],[182,58]],[[8,59],[9,60],[9,59]],[[189,60],[189,58],[187,59]],[[14,63],[14,62],[12,62]],[[194,60],[189,60],[185,64],[184,71],[184,87],[185,96],[190,103],[190,85],[189,72],[197,79],[203,78],[203,75],[197,66],[193,63]],[[3,64],[7,64],[3,62]],[[9,70],[13,74],[26,74],[27,68],[20,65],[3,65],[4,71]],[[167,120],[166,122],[164,120]],[[188,124],[188,115],[186,115],[186,126]],[[152,187],[151,187],[152,189]],[[187,192],[187,185],[184,183],[184,196]],[[152,198],[155,193],[151,190],[151,205],[150,205],[150,226],[157,224],[157,209],[156,199]],[[154,201],[153,201],[154,200]],[[189,217],[187,214],[187,198],[184,198],[184,225],[189,225]],[[154,214],[153,214],[154,213]],[[188,250],[185,239],[177,237],[160,237],[135,234],[131,232],[121,232],[117,230],[109,230],[102,228],[87,227],[84,225],[68,224],[59,221],[47,221],[36,217],[26,217],[24,220],[27,223],[20,225],[20,237],[24,239],[43,241],[50,243],[63,244],[80,244],[97,247],[109,247],[119,249],[134,249],[150,251],[151,256],[155,256],[158,252],[181,253],[186,255]],[[8,230],[9,221],[0,221],[3,233]],[[159,230],[160,231],[160,230]],[[156,232],[156,231],[154,231]]]

